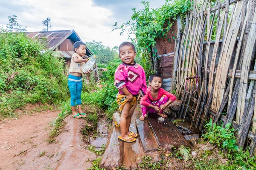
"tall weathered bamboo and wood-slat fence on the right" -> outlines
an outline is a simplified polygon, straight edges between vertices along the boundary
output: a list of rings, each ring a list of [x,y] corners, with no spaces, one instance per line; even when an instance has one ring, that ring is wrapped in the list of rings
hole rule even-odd
[[[249,146],[255,155],[256,0],[212,4],[195,0],[182,37],[177,33],[172,86],[181,97],[178,117],[184,119],[191,108],[190,128],[200,130],[206,119],[232,123],[238,146]],[[198,83],[188,83],[186,78],[196,76]]]

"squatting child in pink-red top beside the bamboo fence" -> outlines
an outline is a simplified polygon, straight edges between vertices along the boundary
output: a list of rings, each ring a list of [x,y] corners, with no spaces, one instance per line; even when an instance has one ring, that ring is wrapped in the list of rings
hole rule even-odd
[[[160,74],[152,74],[149,77],[149,87],[145,96],[140,99],[140,107],[142,116],[140,120],[144,120],[148,113],[157,113],[165,118],[167,115],[163,110],[176,100],[176,96],[161,88],[163,77]]]

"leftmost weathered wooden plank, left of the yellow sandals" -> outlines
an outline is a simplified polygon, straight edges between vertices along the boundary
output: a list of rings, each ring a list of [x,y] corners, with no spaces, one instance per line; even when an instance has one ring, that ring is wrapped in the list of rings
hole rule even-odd
[[[120,136],[120,127],[116,127],[112,123],[110,138],[106,145],[105,153],[102,155],[100,167],[105,169],[111,169],[111,167],[118,167],[122,165],[123,156],[123,142],[119,142],[117,137]]]

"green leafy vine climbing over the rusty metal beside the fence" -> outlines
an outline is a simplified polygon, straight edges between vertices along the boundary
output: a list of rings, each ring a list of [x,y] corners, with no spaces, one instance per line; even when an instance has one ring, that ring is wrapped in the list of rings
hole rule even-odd
[[[174,20],[177,16],[183,17],[190,10],[190,0],[166,0],[166,3],[160,8],[150,8],[149,2],[142,1],[144,9],[136,10],[132,8],[134,14],[131,20],[118,26],[121,29],[120,35],[128,31],[129,40],[137,45],[137,53],[142,57],[142,65],[146,74],[153,72],[152,57],[156,55],[156,48],[152,51],[152,47],[156,44],[156,39],[167,37]],[[132,37],[135,35],[135,38]],[[150,62],[149,62],[150,61]]]

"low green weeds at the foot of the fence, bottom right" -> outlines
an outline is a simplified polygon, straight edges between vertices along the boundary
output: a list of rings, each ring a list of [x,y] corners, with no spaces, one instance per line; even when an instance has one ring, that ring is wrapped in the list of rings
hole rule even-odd
[[[209,140],[210,143],[217,145],[222,150],[219,152],[228,161],[227,164],[220,164],[218,159],[208,160],[204,156],[201,160],[196,159],[193,165],[195,169],[205,170],[251,170],[256,167],[256,156],[250,157],[248,148],[244,151],[239,149],[236,145],[236,138],[234,136],[234,129],[230,128],[231,124],[227,124],[225,128],[212,124],[212,121],[205,125],[206,133],[204,139]],[[228,152],[227,152],[228,151]]]

